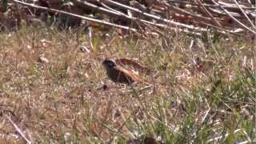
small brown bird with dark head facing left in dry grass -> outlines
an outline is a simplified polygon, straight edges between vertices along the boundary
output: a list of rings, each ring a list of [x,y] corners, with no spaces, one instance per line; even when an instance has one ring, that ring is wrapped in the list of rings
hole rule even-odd
[[[128,85],[133,82],[142,82],[135,74],[126,70],[122,66],[118,66],[114,60],[106,59],[102,62],[106,69],[106,74],[113,82],[126,83]]]

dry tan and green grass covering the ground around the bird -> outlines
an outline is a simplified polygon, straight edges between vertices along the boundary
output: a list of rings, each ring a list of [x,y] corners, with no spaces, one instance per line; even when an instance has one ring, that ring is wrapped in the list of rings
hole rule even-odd
[[[14,124],[37,143],[256,142],[253,41],[93,34],[93,49],[82,30],[0,34],[2,142],[25,141]],[[124,57],[148,66],[143,77],[154,86],[110,82],[102,60]]]

